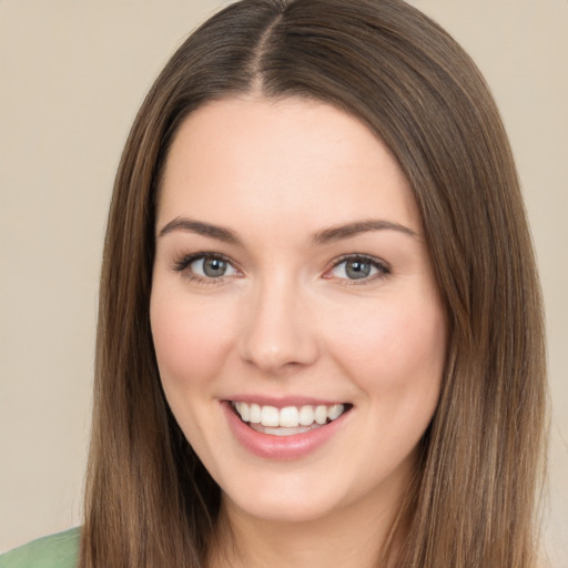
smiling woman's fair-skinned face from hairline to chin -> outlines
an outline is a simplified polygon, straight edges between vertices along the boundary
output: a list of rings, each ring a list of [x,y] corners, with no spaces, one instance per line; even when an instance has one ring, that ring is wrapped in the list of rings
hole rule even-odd
[[[408,183],[358,120],[253,97],[192,113],[160,193],[151,323],[168,402],[229,510],[395,506],[446,321]]]

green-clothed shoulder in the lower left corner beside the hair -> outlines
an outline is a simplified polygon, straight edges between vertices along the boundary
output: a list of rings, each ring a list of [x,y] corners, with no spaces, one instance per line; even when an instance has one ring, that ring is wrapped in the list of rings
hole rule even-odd
[[[75,568],[79,527],[39,538],[0,556],[0,568]]]

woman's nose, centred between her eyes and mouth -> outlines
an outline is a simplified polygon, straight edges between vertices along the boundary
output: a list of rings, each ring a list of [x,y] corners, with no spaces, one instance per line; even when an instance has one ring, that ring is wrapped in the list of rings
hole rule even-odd
[[[251,291],[243,303],[241,356],[265,375],[312,365],[320,347],[313,308],[298,286],[284,278]]]

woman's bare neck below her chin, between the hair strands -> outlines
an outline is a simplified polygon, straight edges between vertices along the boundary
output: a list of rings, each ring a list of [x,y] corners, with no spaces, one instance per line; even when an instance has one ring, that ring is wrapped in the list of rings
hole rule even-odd
[[[390,538],[397,509],[398,499],[382,509],[377,509],[376,501],[362,500],[326,517],[286,521],[253,517],[223,496],[219,546],[211,551],[207,567],[386,568],[389,562],[382,551]],[[403,523],[393,537],[394,554],[402,532]]]

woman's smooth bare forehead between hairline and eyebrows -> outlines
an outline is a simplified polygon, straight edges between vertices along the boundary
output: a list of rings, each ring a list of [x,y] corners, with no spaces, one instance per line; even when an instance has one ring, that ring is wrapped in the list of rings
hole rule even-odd
[[[355,116],[297,98],[224,99],[190,114],[171,146],[159,205],[160,217],[224,223],[310,214],[320,224],[369,215],[419,224],[386,145]]]

